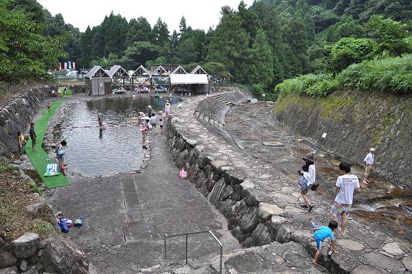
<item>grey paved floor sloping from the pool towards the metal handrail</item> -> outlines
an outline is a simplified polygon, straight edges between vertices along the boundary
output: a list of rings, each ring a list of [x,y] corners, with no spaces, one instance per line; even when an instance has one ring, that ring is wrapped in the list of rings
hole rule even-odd
[[[162,264],[163,233],[211,229],[225,252],[240,248],[225,218],[198,190],[178,178],[166,136],[151,134],[151,159],[141,174],[103,178],[73,177],[56,190],[52,205],[68,218],[84,216],[84,225],[69,237],[88,253],[91,273],[136,273]],[[168,259],[184,258],[183,238],[168,240]],[[190,258],[218,254],[207,234],[190,236]]]

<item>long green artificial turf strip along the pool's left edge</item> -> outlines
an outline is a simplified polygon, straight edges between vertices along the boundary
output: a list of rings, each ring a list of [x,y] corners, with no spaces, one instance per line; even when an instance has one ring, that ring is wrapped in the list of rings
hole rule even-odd
[[[46,172],[46,166],[48,163],[54,163],[53,159],[49,159],[47,152],[43,150],[41,144],[43,144],[43,139],[45,138],[45,132],[47,130],[47,124],[49,123],[49,119],[52,119],[54,112],[58,109],[58,106],[62,104],[63,100],[57,100],[54,102],[51,107],[52,111],[49,113],[47,109],[45,110],[44,114],[37,122],[34,124],[34,131],[36,131],[36,151],[32,150],[32,139],[27,140],[27,144],[25,145],[25,152],[29,157],[30,161],[34,165],[36,172],[40,175],[41,179],[45,183],[47,188],[54,188],[54,187],[62,187],[65,185],[70,185],[70,181],[67,180],[66,176],[59,174],[57,176],[44,176]],[[47,161],[48,160],[48,161]]]

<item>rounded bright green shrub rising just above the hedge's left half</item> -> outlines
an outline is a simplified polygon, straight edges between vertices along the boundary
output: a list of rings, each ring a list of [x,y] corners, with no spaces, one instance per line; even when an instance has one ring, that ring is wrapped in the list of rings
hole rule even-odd
[[[369,38],[341,38],[330,52],[330,63],[334,72],[342,71],[353,63],[374,58],[376,43]]]

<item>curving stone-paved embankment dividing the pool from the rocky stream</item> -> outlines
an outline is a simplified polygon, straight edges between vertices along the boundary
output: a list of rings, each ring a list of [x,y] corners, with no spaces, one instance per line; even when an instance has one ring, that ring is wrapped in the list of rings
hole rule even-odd
[[[240,92],[219,93],[207,98],[191,98],[181,107],[174,107],[168,128],[170,150],[177,167],[186,166],[190,181],[227,218],[228,228],[242,247],[248,248],[244,255],[233,255],[236,259],[229,259],[230,255],[225,257],[227,271],[232,267],[236,270],[231,262],[242,261],[244,266],[251,256],[262,257],[252,254],[267,255],[268,246],[264,244],[286,249],[286,246],[273,242],[300,244],[304,249],[297,253],[302,262],[310,265],[310,256],[316,251],[310,221],[327,225],[330,203],[317,199],[313,212],[302,210],[294,180],[281,172],[275,163],[247,155],[233,144],[222,123],[225,117],[221,115],[225,115],[225,111],[216,113],[214,109],[220,103],[233,106],[244,102],[246,96]],[[229,137],[225,139],[225,136]],[[348,230],[347,236],[337,242],[339,254],[328,255],[328,244],[324,245],[319,262],[332,273],[404,271],[412,260],[407,244],[397,243],[384,231],[373,230],[356,220],[350,221]],[[250,249],[253,246],[264,247]],[[280,260],[276,257],[277,252],[274,253],[273,258],[268,258],[268,262],[273,263],[267,266],[272,270]],[[243,267],[242,264],[238,269]],[[263,271],[266,266],[260,267]],[[258,269],[254,271],[259,272]]]

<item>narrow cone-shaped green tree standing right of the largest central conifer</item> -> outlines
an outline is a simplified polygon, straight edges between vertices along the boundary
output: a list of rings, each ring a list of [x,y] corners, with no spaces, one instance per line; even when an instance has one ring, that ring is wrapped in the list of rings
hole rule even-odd
[[[273,57],[262,29],[258,30],[252,49],[253,62],[250,64],[249,80],[251,84],[262,84],[263,87],[268,87],[273,80]]]

